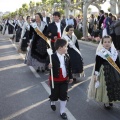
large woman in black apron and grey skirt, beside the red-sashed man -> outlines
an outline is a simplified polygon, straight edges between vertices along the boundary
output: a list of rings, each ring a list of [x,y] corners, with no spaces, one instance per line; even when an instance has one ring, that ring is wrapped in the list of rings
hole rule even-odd
[[[36,13],[35,20],[36,21],[30,25],[29,37],[32,40],[27,53],[26,63],[27,65],[33,66],[37,72],[44,72],[48,57],[48,44],[36,33],[34,28],[37,28],[40,32],[45,34],[47,30],[47,24],[43,22],[42,15],[40,13]]]

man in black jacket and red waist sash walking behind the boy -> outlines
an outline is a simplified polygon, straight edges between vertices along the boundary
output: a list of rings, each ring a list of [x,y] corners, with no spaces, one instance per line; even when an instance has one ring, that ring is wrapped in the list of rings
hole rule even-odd
[[[54,12],[53,13],[54,22],[50,23],[47,29],[47,37],[51,39],[51,47],[53,52],[55,51],[54,42],[58,38],[61,38],[65,27],[65,24],[60,21],[60,17],[61,15],[59,12]]]

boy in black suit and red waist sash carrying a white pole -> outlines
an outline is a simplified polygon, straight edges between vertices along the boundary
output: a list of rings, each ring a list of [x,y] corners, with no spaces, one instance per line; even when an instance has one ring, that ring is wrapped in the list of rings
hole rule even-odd
[[[53,111],[56,110],[55,101],[60,100],[60,116],[62,119],[67,119],[67,115],[65,113],[65,107],[67,103],[67,91],[68,91],[68,83],[73,82],[72,70],[70,65],[70,57],[67,53],[67,41],[64,39],[58,39],[55,42],[56,52],[52,54],[52,65],[49,64],[49,69],[53,70],[53,81],[54,88],[52,88],[51,82],[51,73],[50,73],[50,88],[51,95],[50,103],[51,109]]]

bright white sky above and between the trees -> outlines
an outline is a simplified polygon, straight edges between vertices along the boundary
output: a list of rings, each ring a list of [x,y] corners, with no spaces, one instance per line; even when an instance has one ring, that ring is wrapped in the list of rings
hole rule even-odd
[[[0,12],[14,12],[16,9],[19,9],[22,7],[22,4],[24,3],[30,3],[31,0],[0,0]],[[40,2],[40,0],[32,0],[35,2]],[[109,0],[108,0],[109,1]],[[109,3],[106,2],[104,5],[102,5],[102,9],[107,12],[107,9],[109,7]],[[97,12],[96,7],[92,7],[93,12]]]

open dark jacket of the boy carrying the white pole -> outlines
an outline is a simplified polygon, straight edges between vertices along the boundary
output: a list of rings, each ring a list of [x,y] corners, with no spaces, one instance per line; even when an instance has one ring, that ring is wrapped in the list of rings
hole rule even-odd
[[[48,62],[49,64],[49,62]],[[56,52],[54,54],[52,54],[52,69],[53,69],[53,77],[54,78],[58,78],[59,77],[59,70],[60,70],[60,61],[59,58],[56,54]],[[70,58],[67,54],[65,54],[65,66],[66,66],[66,72],[67,72],[67,77],[69,77],[69,79],[72,79],[72,71],[71,71],[71,65],[70,65]],[[51,74],[51,73],[50,73]]]

